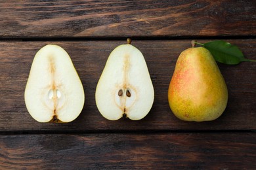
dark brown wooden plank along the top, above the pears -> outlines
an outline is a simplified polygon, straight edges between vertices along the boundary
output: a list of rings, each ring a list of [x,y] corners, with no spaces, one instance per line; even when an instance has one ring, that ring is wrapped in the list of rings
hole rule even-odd
[[[254,1],[0,1],[0,38],[256,35]]]

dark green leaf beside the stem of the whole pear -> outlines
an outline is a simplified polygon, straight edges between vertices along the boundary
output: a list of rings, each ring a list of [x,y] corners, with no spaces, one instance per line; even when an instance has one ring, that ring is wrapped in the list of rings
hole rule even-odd
[[[225,41],[211,41],[203,44],[203,47],[211,52],[213,58],[220,63],[229,65],[238,64],[242,61],[255,61],[244,58],[244,54],[238,46]]]

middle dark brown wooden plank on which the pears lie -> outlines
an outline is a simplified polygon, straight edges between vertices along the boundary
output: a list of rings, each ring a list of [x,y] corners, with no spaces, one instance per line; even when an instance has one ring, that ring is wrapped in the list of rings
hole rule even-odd
[[[227,40],[240,46],[245,56],[256,59],[255,39]],[[200,40],[207,42],[207,40]],[[45,44],[58,44],[70,54],[85,89],[85,106],[79,117],[68,124],[42,124],[33,120],[24,103],[24,89],[33,57]],[[212,122],[183,122],[169,109],[167,90],[182,50],[190,41],[133,41],[144,54],[155,89],[149,114],[139,121],[109,121],[95,104],[95,88],[110,52],[125,41],[37,41],[0,42],[0,131],[102,131],[102,130],[255,130],[256,65],[219,64],[228,86],[228,106]]]

